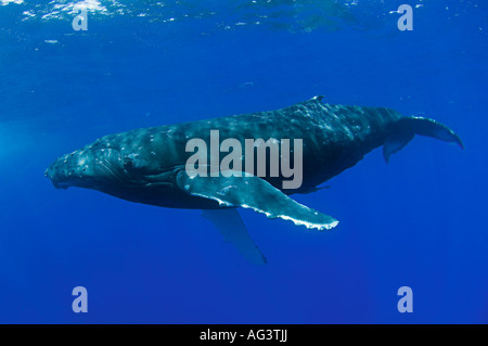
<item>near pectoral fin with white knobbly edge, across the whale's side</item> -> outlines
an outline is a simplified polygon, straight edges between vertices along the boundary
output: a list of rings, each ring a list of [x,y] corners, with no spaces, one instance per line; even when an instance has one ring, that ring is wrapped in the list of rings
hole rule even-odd
[[[217,201],[222,206],[241,206],[266,214],[269,218],[291,220],[307,228],[329,230],[338,221],[331,216],[301,205],[269,182],[245,174],[243,177],[189,177],[185,170],[177,176],[178,187],[187,193]]]

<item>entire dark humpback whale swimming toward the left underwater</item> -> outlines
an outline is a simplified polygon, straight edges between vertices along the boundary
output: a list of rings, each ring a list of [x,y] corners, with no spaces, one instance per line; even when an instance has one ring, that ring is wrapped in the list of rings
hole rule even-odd
[[[249,260],[266,262],[235,207],[252,208],[269,218],[291,220],[307,228],[331,229],[338,223],[336,219],[295,202],[290,195],[318,190],[320,183],[352,167],[381,145],[388,162],[415,134],[463,148],[460,138],[436,120],[403,117],[383,107],[332,105],[323,103],[322,98],[277,111],[108,134],[57,158],[46,176],[60,189],[80,187],[131,202],[206,210],[204,216]],[[189,141],[201,139],[209,143],[215,130],[222,141],[233,139],[242,146],[246,139],[288,139],[290,143],[301,140],[301,148],[290,144],[291,152],[301,149],[301,184],[284,189],[283,182],[290,177],[282,172],[274,177],[252,172],[242,177],[190,174],[187,163],[194,153],[188,150]],[[245,161],[246,155],[249,154],[243,153],[241,158]],[[211,157],[208,158],[211,163]],[[298,164],[296,158],[290,159],[288,164]],[[271,164],[269,157],[266,163]]]

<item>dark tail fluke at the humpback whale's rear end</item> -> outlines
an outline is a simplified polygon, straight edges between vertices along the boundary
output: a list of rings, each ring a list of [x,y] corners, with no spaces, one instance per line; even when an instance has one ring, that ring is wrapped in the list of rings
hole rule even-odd
[[[446,125],[420,116],[403,117],[398,120],[391,134],[389,134],[383,144],[383,157],[386,163],[389,162],[391,154],[395,154],[407,145],[415,134],[436,138],[445,142],[454,142],[461,149],[464,149],[459,136]]]

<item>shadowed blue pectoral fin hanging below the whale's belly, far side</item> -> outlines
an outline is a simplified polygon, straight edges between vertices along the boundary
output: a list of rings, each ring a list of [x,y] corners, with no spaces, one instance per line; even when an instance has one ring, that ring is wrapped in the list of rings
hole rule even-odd
[[[239,252],[255,265],[266,265],[265,255],[253,242],[244,222],[235,208],[202,210],[202,215],[210,220],[222,233],[226,242],[232,243]]]

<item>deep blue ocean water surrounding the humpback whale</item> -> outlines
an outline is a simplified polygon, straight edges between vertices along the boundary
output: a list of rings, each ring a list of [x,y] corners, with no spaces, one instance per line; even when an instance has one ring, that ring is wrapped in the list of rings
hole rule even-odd
[[[395,12],[413,9],[413,30]],[[88,30],[74,30],[87,9]],[[0,0],[1,323],[488,322],[488,3]],[[324,102],[433,117],[296,195],[318,232],[242,210],[269,264],[198,210],[55,190],[44,169],[107,133]],[[75,313],[72,290],[88,291]],[[413,292],[400,313],[397,291]]]

